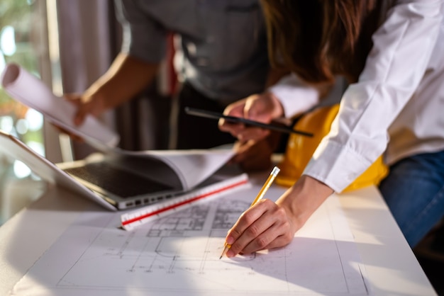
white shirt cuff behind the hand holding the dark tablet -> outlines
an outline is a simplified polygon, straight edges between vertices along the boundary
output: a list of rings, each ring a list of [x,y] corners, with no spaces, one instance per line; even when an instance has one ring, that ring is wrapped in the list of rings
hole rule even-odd
[[[268,89],[276,96],[284,108],[286,118],[303,113],[319,102],[319,91],[304,84],[295,74],[282,77]]]

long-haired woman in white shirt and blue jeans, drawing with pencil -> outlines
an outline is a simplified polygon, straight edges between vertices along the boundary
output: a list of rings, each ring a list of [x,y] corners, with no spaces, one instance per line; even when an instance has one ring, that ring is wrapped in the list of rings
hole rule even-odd
[[[240,217],[228,232],[227,256],[289,244],[329,195],[381,154],[390,170],[379,189],[410,246],[443,217],[443,2],[262,0],[271,57],[279,52],[274,63],[292,69],[292,83],[287,79],[224,113],[269,122],[300,112],[299,104],[334,75],[350,84],[303,176],[276,203],[262,200]],[[244,141],[266,133],[219,125]]]

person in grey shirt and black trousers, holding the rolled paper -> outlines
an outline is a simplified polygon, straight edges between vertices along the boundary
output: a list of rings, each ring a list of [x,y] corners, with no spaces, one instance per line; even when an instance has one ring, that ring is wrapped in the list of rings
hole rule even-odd
[[[184,113],[184,107],[222,112],[229,103],[264,91],[270,63],[258,0],[116,0],[123,46],[109,70],[82,94],[74,123],[130,100],[148,86],[165,57],[167,35],[180,36],[184,79],[179,93],[176,149],[233,143],[216,121]],[[269,75],[270,74],[270,75]]]

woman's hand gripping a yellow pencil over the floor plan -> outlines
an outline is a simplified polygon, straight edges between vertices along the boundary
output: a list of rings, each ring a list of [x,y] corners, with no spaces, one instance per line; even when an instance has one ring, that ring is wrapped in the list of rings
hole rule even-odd
[[[303,175],[276,203],[260,200],[270,186],[270,177],[257,195],[260,198],[240,215],[228,231],[221,258],[286,246],[311,214],[333,193],[325,184]]]

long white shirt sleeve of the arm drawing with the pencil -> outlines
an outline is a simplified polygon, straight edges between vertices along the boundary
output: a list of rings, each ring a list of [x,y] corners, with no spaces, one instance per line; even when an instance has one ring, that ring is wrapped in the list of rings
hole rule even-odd
[[[397,1],[387,12],[365,69],[304,174],[340,192],[384,152],[389,126],[426,72],[442,18],[443,0]]]

